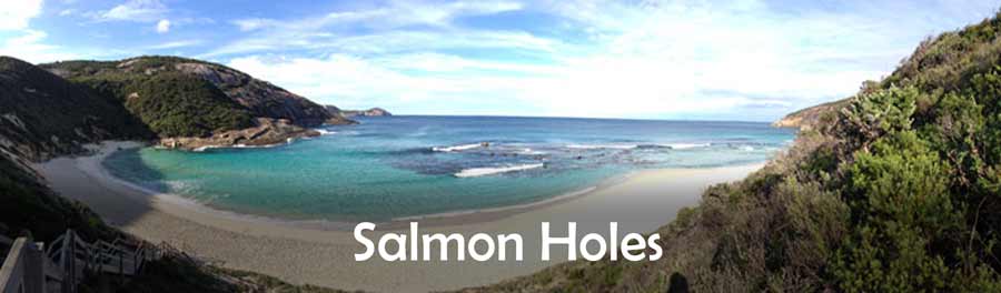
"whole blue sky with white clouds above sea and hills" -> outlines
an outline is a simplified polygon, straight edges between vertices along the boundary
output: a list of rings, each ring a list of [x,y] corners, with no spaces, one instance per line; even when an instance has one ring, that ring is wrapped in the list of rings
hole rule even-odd
[[[209,60],[397,114],[771,121],[994,1],[3,0],[0,54]]]

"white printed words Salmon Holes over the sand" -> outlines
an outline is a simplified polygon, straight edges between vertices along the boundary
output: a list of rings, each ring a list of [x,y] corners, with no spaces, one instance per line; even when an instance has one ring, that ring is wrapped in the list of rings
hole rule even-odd
[[[618,223],[608,223],[608,234],[588,233],[577,238],[577,223],[567,223],[567,233],[553,235],[549,232],[549,222],[541,223],[542,243],[541,257],[551,260],[549,251],[554,247],[565,247],[567,259],[577,260],[579,254],[584,260],[598,261],[606,255],[612,261],[618,261],[620,255],[626,261],[656,261],[663,256],[663,249],[656,244],[660,234],[647,238],[638,233],[628,233],[618,238]],[[355,226],[355,240],[365,246],[361,253],[355,254],[355,261],[368,261],[378,254],[385,261],[465,261],[468,257],[474,261],[522,261],[524,257],[524,240],[521,234],[497,234],[492,236],[486,233],[476,233],[468,240],[458,233],[420,234],[417,222],[410,222],[409,234],[385,233],[377,242],[365,235],[365,232],[375,231],[376,224],[363,222]],[[607,238],[606,238],[607,236]],[[433,247],[437,247],[437,257],[433,257]],[[513,250],[513,251],[512,251]],[[648,253],[651,252],[651,253]],[[449,259],[454,255],[454,259]]]

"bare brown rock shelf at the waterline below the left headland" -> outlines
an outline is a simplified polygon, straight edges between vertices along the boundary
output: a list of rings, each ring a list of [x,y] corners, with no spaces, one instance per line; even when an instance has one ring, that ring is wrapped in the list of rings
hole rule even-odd
[[[159,145],[170,149],[204,150],[225,146],[265,146],[297,139],[319,137],[316,130],[303,128],[285,119],[258,118],[257,127],[212,133],[206,138],[165,138]]]

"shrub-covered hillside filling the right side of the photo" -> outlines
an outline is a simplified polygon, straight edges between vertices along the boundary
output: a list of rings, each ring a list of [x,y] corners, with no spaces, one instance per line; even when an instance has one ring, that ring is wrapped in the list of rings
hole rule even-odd
[[[764,169],[661,228],[657,262],[466,291],[1001,292],[1001,19],[923,42]],[[684,284],[684,285],[682,285]]]

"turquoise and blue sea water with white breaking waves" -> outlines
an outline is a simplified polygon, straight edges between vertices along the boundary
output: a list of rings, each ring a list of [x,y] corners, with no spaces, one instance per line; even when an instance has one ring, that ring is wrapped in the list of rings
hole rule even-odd
[[[766,123],[392,117],[266,149],[116,152],[116,176],[202,204],[288,220],[386,221],[497,208],[630,171],[767,160],[794,137]]]

